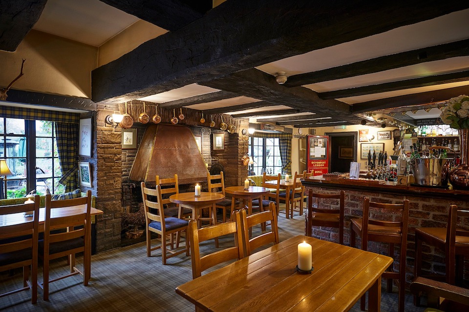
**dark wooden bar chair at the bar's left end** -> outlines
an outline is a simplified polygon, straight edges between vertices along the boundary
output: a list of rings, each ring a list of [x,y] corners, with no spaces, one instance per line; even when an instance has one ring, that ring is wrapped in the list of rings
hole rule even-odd
[[[339,209],[331,209],[330,205],[337,200],[339,200]],[[344,202],[345,192],[343,190],[339,194],[313,193],[313,190],[309,190],[306,235],[313,236],[313,226],[339,228],[339,243],[343,245]]]

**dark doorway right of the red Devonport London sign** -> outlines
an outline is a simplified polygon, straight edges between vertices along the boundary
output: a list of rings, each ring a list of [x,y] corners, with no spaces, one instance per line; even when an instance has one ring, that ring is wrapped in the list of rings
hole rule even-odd
[[[331,132],[329,136],[329,172],[349,172],[350,162],[357,161],[357,132]]]

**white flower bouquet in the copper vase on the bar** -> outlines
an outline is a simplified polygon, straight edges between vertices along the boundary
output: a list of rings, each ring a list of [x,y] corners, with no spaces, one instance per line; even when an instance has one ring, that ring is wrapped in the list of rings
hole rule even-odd
[[[450,98],[440,118],[453,129],[469,129],[469,97]]]

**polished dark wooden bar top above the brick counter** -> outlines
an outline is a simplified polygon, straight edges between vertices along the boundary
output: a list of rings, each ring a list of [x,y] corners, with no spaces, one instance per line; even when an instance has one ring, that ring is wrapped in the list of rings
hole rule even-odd
[[[469,200],[469,190],[449,190],[441,187],[425,187],[413,185],[394,185],[393,182],[377,181],[368,179],[351,179],[312,176],[302,179],[304,186],[329,187],[344,190],[363,190],[368,192],[414,195],[414,196],[432,196],[437,198],[457,198],[458,200]]]

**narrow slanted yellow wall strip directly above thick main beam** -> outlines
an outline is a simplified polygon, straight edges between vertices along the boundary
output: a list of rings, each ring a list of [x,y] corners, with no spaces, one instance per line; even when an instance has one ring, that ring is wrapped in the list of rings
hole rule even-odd
[[[99,47],[98,67],[119,59],[143,42],[161,36],[168,31],[145,20],[138,20]]]

